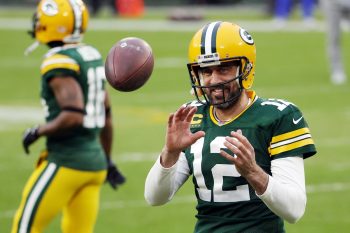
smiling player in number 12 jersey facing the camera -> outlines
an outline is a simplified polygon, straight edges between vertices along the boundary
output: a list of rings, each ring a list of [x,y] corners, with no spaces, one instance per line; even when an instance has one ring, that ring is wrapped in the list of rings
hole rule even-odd
[[[256,50],[243,28],[212,22],[189,45],[196,101],[168,120],[166,142],[145,184],[163,205],[192,176],[194,232],[284,232],[306,205],[303,159],[316,153],[300,110],[249,90]]]

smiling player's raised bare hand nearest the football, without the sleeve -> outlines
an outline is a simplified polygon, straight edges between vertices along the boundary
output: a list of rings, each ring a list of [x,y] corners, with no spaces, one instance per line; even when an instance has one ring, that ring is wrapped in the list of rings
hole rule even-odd
[[[168,127],[165,138],[165,146],[162,154],[166,154],[167,158],[163,158],[163,165],[171,166],[174,164],[180,152],[191,146],[199,138],[204,137],[204,131],[192,133],[190,125],[194,114],[197,111],[195,106],[181,106],[175,113],[170,114],[168,119]],[[171,160],[168,160],[172,157]],[[165,161],[167,160],[167,161]]]

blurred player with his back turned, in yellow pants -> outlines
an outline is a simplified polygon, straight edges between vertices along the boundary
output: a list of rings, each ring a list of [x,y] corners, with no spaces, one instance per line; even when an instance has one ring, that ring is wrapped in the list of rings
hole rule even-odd
[[[109,157],[113,129],[103,59],[80,43],[87,23],[80,0],[41,0],[33,17],[33,37],[50,47],[40,68],[46,123],[26,130],[23,146],[29,153],[41,136],[47,140],[12,233],[43,232],[61,212],[62,232],[93,232],[102,184],[125,182]]]

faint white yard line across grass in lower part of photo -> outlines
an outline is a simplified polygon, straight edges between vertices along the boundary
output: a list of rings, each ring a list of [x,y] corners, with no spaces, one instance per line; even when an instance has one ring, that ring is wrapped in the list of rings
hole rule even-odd
[[[329,192],[342,192],[350,189],[350,183],[326,183],[318,185],[307,185],[307,193],[329,193]],[[167,205],[183,205],[188,203],[196,203],[194,195],[187,196],[175,196],[174,199]],[[124,208],[145,208],[150,207],[145,200],[126,200],[126,201],[105,201],[100,205],[100,209],[124,209]],[[15,214],[15,210],[5,210],[0,212],[0,219],[12,218]]]

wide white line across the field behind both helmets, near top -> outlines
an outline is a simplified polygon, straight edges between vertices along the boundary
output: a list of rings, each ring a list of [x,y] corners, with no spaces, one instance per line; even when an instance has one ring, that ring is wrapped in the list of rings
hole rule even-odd
[[[190,31],[194,32],[205,25],[207,21],[170,21],[170,20],[127,20],[127,19],[91,19],[89,30],[91,31]],[[285,25],[274,20],[236,20],[249,32],[309,32],[325,31],[325,23],[316,21],[313,25],[307,25],[302,20],[289,20]],[[27,18],[0,18],[0,28],[7,30],[24,30],[31,28],[31,20]],[[345,30],[346,28],[344,28]]]

